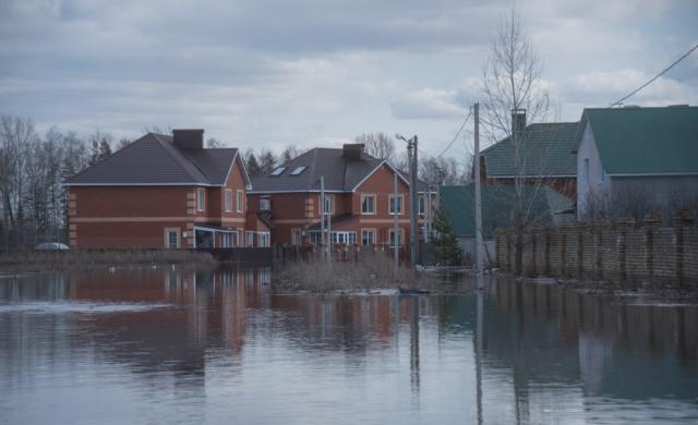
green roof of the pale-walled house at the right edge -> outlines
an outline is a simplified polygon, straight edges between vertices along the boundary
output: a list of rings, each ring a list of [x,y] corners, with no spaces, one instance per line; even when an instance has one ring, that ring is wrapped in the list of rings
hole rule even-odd
[[[698,173],[698,107],[585,109],[582,123],[606,174]]]

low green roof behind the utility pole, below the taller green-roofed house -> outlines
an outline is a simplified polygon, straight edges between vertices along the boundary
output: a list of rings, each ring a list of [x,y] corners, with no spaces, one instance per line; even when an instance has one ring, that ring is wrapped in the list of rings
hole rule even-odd
[[[509,227],[514,222],[515,187],[513,184],[483,185],[480,194],[482,197],[482,233],[484,238],[491,238],[495,228]],[[454,226],[454,232],[458,236],[474,238],[474,185],[442,186],[440,196]],[[549,186],[540,186],[538,191],[527,186],[524,199],[530,201],[530,217],[532,221],[541,226],[558,223],[565,217],[555,215],[555,212],[569,210],[574,207],[571,199]]]

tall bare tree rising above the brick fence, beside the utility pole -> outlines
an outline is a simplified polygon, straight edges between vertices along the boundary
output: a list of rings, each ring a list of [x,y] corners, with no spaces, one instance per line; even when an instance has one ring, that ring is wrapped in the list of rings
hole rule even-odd
[[[520,14],[512,8],[500,23],[483,66],[483,133],[491,139],[508,137],[512,144],[515,198],[512,210],[516,228],[517,275],[524,271],[524,233],[531,223],[533,199],[543,184],[542,175],[530,175],[526,163],[527,132],[516,118],[524,112],[530,121],[546,121],[552,113],[550,96],[541,84],[542,62],[526,33]],[[544,158],[539,158],[544,160]]]

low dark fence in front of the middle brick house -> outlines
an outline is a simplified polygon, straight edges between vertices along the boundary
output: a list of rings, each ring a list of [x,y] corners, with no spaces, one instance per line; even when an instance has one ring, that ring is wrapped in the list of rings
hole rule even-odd
[[[274,245],[275,262],[309,262],[322,259],[323,250],[321,245]],[[359,262],[366,255],[386,255],[393,258],[392,245],[359,245],[359,244],[333,244],[332,259],[334,262]],[[398,259],[400,263],[409,262],[409,247],[402,245],[398,247]]]

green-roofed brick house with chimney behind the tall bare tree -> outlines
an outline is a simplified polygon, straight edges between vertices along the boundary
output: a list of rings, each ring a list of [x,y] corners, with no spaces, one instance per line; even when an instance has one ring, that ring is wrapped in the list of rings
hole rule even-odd
[[[519,166],[515,165],[515,146],[506,137],[482,150],[483,184],[512,184],[516,175],[525,181],[542,181],[565,196],[574,197],[577,190],[575,156],[576,122],[535,123],[526,125],[526,111],[513,116],[520,133]]]

